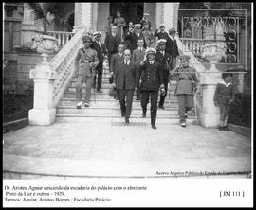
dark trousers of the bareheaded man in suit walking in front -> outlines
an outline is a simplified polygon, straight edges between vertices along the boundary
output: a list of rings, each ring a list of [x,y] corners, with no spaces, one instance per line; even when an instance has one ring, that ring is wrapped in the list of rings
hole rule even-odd
[[[129,118],[132,112],[132,103],[135,90],[117,89],[117,92],[121,114],[125,114],[125,118]]]

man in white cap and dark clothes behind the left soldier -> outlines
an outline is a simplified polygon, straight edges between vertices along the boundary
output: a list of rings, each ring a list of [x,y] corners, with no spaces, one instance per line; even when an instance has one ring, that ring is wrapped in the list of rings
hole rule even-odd
[[[105,45],[101,43],[101,32],[100,31],[96,31],[93,33],[93,43],[92,43],[91,47],[97,51],[97,57],[99,59],[99,64],[96,67],[96,76],[98,76],[97,92],[101,92],[103,62],[104,62],[104,57],[107,54],[107,52],[106,52]],[[94,85],[96,85],[96,76],[94,77]]]

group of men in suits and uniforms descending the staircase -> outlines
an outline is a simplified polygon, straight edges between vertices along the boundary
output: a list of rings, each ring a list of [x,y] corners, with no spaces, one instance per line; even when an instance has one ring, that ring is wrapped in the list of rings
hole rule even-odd
[[[107,55],[109,60],[110,73],[111,76],[114,77],[113,86],[117,89],[121,116],[125,117],[125,123],[129,123],[134,91],[136,89],[137,100],[140,100],[142,108],[142,117],[146,117],[147,104],[150,100],[151,125],[153,129],[156,129],[155,121],[158,92],[160,90],[161,93],[160,100],[158,102],[158,108],[164,109],[164,101],[168,92],[168,83],[171,79],[170,73],[172,73],[176,58],[179,56],[177,44],[174,40],[175,31],[174,29],[171,29],[168,34],[164,30],[164,25],[160,25],[159,30],[155,31],[155,36],[158,38],[156,47],[152,48],[147,47],[146,45],[145,39],[140,30],[141,25],[137,24],[133,28],[133,31],[129,31],[126,34],[126,38],[129,38],[130,45],[122,42],[117,31],[117,26],[115,25],[111,27],[110,32],[106,35],[104,44],[101,43],[101,32],[95,32],[91,40],[89,39],[88,35],[84,37],[84,48],[79,50],[79,54],[76,59],[77,70],[79,66],[79,60],[81,65],[77,84],[77,108],[81,108],[82,106],[81,89],[84,79],[90,81],[88,85],[86,84],[88,86],[88,88],[86,88],[88,89],[86,91],[87,93],[90,92],[90,84],[95,84],[96,77],[98,76],[97,91],[101,92],[103,61]],[[87,67],[84,67],[83,65],[86,65]],[[87,70],[83,71],[82,68]],[[179,75],[178,70],[184,68],[187,68],[185,64],[183,67],[176,67],[174,69],[175,74]],[[92,69],[95,70],[95,73],[93,73]],[[190,70],[192,69],[187,68],[187,71]],[[186,83],[186,80],[190,80],[191,82],[192,79],[194,79],[193,70],[192,74],[192,77],[189,77],[185,74],[186,77],[183,75],[184,77],[179,79],[183,80],[182,83]],[[180,75],[182,76],[182,74]],[[92,77],[93,80],[90,77]],[[184,95],[186,93],[182,92],[181,94]],[[85,96],[85,107],[89,106],[89,97],[90,94]],[[184,114],[187,114],[187,111],[189,110],[189,106],[186,107],[186,103],[190,103],[191,106],[192,97],[179,96],[178,98],[179,114],[181,123],[183,123],[182,125],[184,127]]]

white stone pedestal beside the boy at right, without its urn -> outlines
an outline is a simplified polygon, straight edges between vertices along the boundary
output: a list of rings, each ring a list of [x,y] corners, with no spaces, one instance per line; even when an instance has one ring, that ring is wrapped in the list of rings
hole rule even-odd
[[[209,73],[202,75],[200,82],[202,87],[202,110],[198,114],[200,124],[206,128],[216,128],[220,121],[220,108],[214,105],[214,93],[217,83],[221,80],[221,72],[216,68],[215,63],[211,64]]]

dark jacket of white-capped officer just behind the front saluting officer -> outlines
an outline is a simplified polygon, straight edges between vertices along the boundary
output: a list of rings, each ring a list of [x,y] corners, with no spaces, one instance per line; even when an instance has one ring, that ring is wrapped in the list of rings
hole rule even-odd
[[[169,70],[172,61],[170,54],[168,52],[165,52],[163,56],[163,54],[159,50],[157,50],[155,54],[155,61],[160,64],[163,79],[169,79]]]

